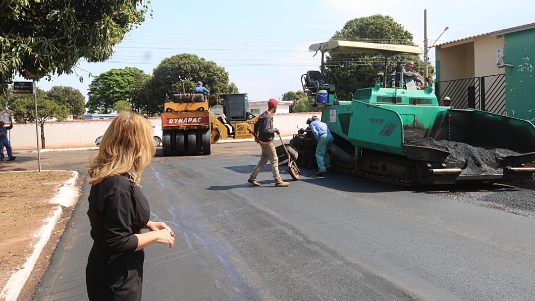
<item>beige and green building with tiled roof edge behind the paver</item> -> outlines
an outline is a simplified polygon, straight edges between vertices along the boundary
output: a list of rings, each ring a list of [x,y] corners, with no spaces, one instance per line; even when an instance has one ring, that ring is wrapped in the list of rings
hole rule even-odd
[[[435,47],[435,93],[471,107],[535,121],[535,22]]]

